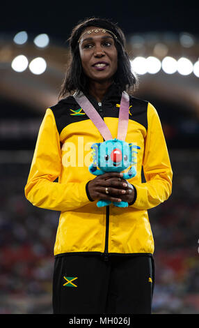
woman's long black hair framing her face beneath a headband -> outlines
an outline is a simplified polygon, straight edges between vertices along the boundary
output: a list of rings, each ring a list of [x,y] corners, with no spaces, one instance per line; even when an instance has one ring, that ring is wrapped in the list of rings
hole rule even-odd
[[[71,36],[68,39],[70,45],[70,60],[67,64],[65,79],[59,92],[59,98],[64,98],[71,94],[72,91],[88,92],[88,77],[83,73],[81,66],[81,58],[79,55],[78,40],[86,27],[101,27],[107,29],[117,38],[114,38],[116,49],[118,51],[118,69],[113,76],[113,81],[118,85],[120,92],[127,91],[132,94],[138,84],[136,75],[132,73],[129,55],[125,50],[125,36],[120,27],[116,23],[105,18],[91,17],[86,18],[72,30]]]

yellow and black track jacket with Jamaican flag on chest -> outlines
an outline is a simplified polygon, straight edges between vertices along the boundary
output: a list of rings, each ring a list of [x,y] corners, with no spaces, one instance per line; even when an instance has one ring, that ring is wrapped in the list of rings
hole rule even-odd
[[[121,94],[113,84],[102,103],[89,100],[117,137]],[[47,108],[42,120],[27,184],[26,198],[36,207],[61,211],[54,255],[65,253],[148,254],[154,240],[148,209],[168,199],[172,169],[164,133],[155,108],[130,96],[126,142],[141,149],[136,177],[136,199],[129,207],[97,207],[86,185],[95,179],[88,171],[90,146],[103,137],[72,96]],[[141,170],[145,182],[141,179]],[[58,178],[58,181],[55,181]]]

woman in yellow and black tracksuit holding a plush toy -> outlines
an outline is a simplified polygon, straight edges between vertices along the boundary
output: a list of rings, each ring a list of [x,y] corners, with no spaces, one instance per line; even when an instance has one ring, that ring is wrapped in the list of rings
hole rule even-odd
[[[151,313],[154,241],[148,209],[167,200],[172,186],[159,117],[148,101],[132,96],[136,77],[116,24],[84,20],[72,31],[70,50],[62,99],[47,109],[25,187],[33,205],[61,211],[54,313]],[[118,172],[94,177],[88,171],[90,146],[103,137],[74,100],[74,91],[90,100],[113,137],[122,91],[130,95],[126,142],[140,149],[136,176],[129,181]],[[100,208],[99,199],[129,206]]]

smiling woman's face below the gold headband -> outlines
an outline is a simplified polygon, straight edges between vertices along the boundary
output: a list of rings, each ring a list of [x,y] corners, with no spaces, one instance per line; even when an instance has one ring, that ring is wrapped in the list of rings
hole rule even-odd
[[[83,32],[95,27],[88,27]],[[84,33],[79,40],[83,72],[95,81],[111,80],[118,68],[118,52],[110,33]]]

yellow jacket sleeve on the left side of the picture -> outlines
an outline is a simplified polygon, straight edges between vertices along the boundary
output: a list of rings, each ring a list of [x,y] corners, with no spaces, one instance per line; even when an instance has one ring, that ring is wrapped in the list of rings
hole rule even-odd
[[[61,175],[61,170],[59,134],[54,114],[48,108],[40,126],[29,177],[24,188],[26,199],[36,207],[56,211],[70,211],[88,204],[88,181],[67,184],[54,182]]]

